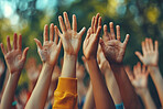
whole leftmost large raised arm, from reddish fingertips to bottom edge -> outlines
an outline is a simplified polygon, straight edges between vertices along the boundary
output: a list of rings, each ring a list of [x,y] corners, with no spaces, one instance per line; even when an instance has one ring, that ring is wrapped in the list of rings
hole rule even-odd
[[[1,109],[10,109],[12,107],[12,101],[14,98],[14,91],[18,85],[18,80],[21,75],[21,70],[24,66],[26,59],[26,53],[29,47],[26,47],[23,53],[22,48],[22,36],[19,39],[17,34],[13,37],[13,48],[11,48],[10,37],[7,37],[7,47],[8,52],[4,50],[3,44],[1,44],[1,50],[4,55],[4,59],[9,69],[9,79],[7,86],[4,88],[2,100],[1,100]]]

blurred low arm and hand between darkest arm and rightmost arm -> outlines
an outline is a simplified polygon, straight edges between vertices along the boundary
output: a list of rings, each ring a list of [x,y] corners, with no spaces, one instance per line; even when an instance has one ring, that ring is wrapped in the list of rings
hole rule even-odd
[[[134,74],[134,78],[130,80],[132,85],[134,86],[137,94],[141,97],[145,106],[145,109],[156,109],[154,101],[148,89],[149,73],[148,70],[145,70],[145,66],[143,65],[141,68],[141,64],[138,63],[133,67],[133,74]]]

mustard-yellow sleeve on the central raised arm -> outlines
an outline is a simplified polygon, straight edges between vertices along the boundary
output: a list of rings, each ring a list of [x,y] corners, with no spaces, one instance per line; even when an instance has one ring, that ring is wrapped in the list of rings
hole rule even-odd
[[[62,78],[54,91],[53,109],[77,109],[77,79]]]

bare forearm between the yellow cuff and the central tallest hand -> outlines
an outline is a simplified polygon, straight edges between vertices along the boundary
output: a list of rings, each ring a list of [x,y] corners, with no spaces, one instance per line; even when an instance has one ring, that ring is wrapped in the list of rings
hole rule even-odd
[[[64,64],[61,77],[76,78],[76,55],[64,54]]]

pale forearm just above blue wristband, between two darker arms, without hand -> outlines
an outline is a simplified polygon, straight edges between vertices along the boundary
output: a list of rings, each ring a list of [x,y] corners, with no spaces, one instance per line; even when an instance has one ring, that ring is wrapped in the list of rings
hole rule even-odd
[[[105,78],[106,78],[106,84],[107,84],[107,87],[108,87],[110,95],[113,99],[115,105],[121,103],[122,99],[121,99],[119,87],[117,85],[117,81],[116,81],[112,70],[110,70],[110,69],[106,70]]]

